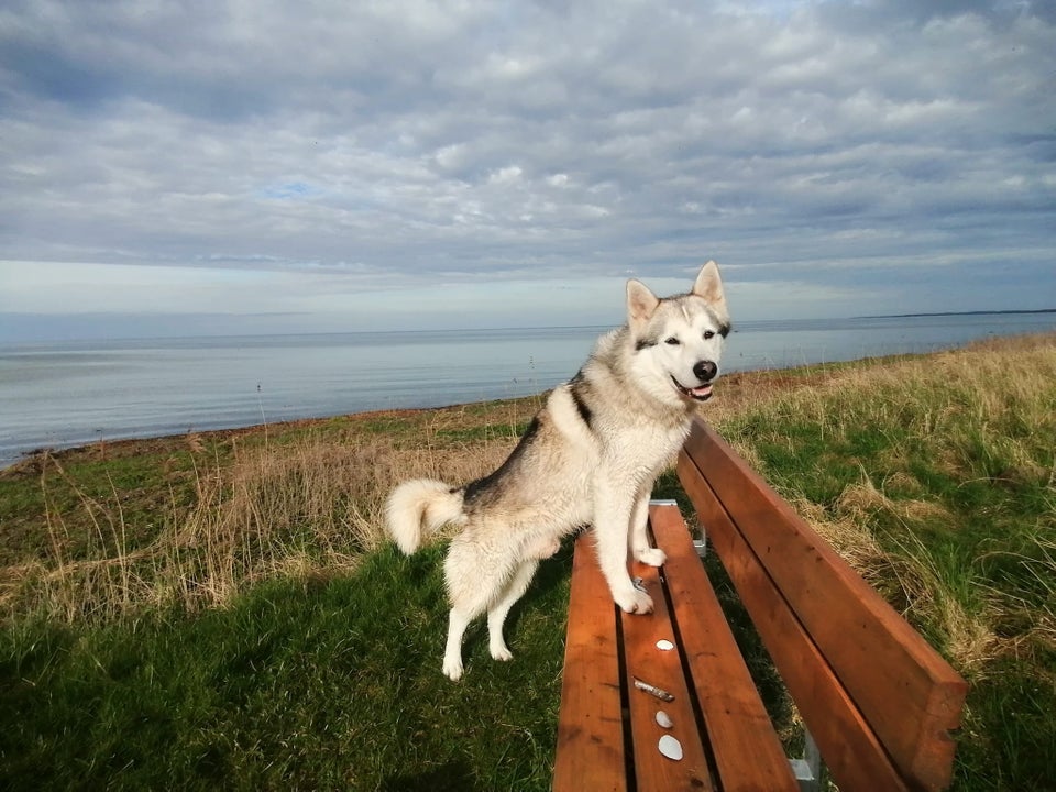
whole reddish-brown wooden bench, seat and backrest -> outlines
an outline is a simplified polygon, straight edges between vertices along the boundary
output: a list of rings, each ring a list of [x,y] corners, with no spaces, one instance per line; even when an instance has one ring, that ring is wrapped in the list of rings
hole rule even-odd
[[[703,422],[678,472],[833,781],[946,788],[965,681]],[[678,507],[649,516],[668,553],[660,570],[634,565],[651,616],[623,614],[591,534],[576,541],[553,789],[799,789]],[[661,755],[666,734],[681,760]]]

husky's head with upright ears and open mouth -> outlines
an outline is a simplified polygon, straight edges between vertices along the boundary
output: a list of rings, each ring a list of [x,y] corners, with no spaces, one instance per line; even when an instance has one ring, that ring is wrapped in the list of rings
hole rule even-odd
[[[659,298],[640,280],[627,282],[627,322],[636,367],[652,375],[648,389],[668,403],[705,402],[718,377],[729,311],[710,261],[689,294]]]

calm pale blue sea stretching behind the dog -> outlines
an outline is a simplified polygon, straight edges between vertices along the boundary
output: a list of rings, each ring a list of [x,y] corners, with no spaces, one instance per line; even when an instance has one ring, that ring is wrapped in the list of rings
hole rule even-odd
[[[40,448],[525,396],[607,328],[0,345],[0,466]],[[727,372],[930,352],[1056,330],[1056,314],[741,322]]]

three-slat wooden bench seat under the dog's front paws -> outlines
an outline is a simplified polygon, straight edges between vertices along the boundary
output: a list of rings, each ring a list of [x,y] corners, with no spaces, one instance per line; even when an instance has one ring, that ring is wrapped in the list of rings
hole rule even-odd
[[[653,598],[649,615],[623,614],[613,604],[593,532],[576,540],[553,789],[794,792],[789,761],[678,507],[652,505],[650,525],[668,560],[661,570],[634,564]],[[661,639],[675,648],[660,650]],[[636,690],[636,676],[674,701]],[[670,730],[657,724],[659,710],[673,721]],[[681,743],[681,761],[660,754],[664,734]]]

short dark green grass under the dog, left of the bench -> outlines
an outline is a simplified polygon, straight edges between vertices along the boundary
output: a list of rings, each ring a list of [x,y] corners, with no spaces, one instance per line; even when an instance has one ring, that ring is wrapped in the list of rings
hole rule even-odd
[[[195,618],[2,634],[9,789],[549,789],[570,557],[547,565],[496,663],[440,674],[441,553],[261,584]]]

